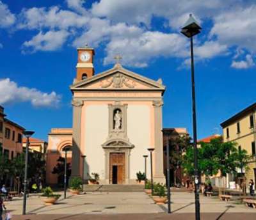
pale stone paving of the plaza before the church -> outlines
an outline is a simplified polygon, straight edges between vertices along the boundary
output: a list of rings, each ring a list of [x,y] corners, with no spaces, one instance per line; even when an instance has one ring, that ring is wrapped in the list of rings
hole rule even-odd
[[[172,193],[172,212],[177,219],[190,219],[195,212],[194,194],[188,192]],[[246,219],[256,216],[255,208],[245,207],[235,201],[220,201],[217,197],[200,197],[201,212],[209,219]],[[56,205],[45,206],[41,198],[33,195],[28,198],[28,216],[16,216],[22,212],[22,198],[6,202],[8,210],[12,211],[13,219],[166,219],[167,205],[156,205],[143,192],[134,193],[87,193],[72,195]],[[109,214],[112,215],[109,217]],[[141,215],[142,214],[142,215]],[[144,215],[147,214],[147,215]],[[91,217],[90,217],[91,216]],[[144,218],[148,216],[147,218]],[[150,216],[150,217],[149,217]],[[229,216],[229,217],[228,217]],[[89,218],[90,217],[90,218]],[[168,216],[167,216],[168,217]],[[218,218],[220,217],[220,218]],[[226,218],[227,217],[227,218]],[[238,217],[238,218],[237,218]],[[245,216],[244,216],[245,217]]]

